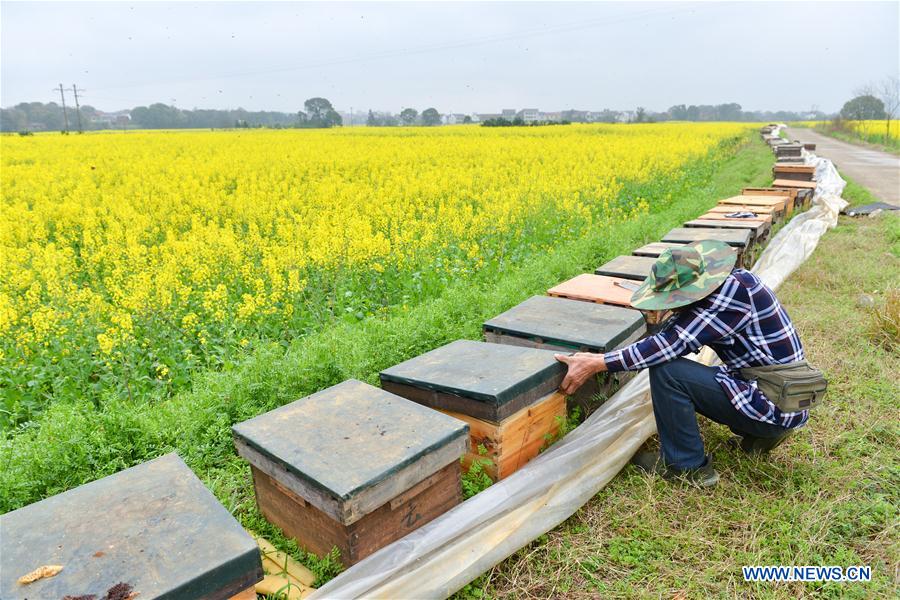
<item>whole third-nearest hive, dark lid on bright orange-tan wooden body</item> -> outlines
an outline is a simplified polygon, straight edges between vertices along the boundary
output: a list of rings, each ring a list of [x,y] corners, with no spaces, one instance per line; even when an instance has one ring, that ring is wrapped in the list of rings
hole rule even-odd
[[[488,459],[485,472],[503,479],[537,456],[565,419],[557,388],[566,369],[554,354],[458,340],[382,371],[381,385],[468,423],[466,462]]]

